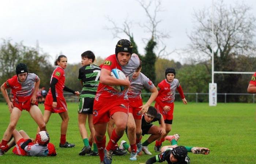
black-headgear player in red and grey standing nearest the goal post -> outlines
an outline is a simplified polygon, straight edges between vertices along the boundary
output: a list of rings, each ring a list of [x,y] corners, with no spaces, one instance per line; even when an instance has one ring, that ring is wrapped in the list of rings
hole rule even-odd
[[[174,68],[167,68],[165,70],[165,78],[163,81],[158,83],[158,96],[155,99],[155,108],[158,113],[163,115],[165,120],[165,131],[167,135],[172,129],[173,122],[173,110],[174,110],[174,99],[176,89],[180,93],[183,104],[187,104],[184,93],[178,79],[175,78],[176,71]],[[164,136],[159,138],[155,142],[155,151],[160,152],[161,144],[165,140]]]

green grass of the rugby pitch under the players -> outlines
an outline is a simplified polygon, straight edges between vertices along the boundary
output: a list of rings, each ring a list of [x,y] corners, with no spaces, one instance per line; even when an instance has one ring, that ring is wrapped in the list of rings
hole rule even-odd
[[[189,153],[192,164],[256,163],[255,106],[256,104],[219,103],[216,107],[209,107],[207,103],[183,105],[180,102],[176,102],[173,129],[170,134],[180,134],[179,145],[210,148],[209,155]],[[39,105],[39,107],[44,109],[42,105]],[[4,103],[0,103],[0,109],[0,137],[2,137],[8,126],[10,113]],[[50,134],[50,141],[57,146],[58,155],[56,157],[22,157],[14,155],[12,151],[8,151],[4,156],[0,157],[0,163],[98,164],[99,157],[78,155],[83,147],[83,142],[78,129],[77,104],[68,103],[68,112],[70,120],[67,141],[76,144],[75,148],[59,148],[61,119],[58,114],[52,114],[47,124],[47,129]],[[36,128],[37,125],[29,116],[29,113],[23,111],[16,129],[23,129],[30,137],[34,138]],[[144,136],[142,141],[146,140],[147,137]],[[127,140],[127,137],[123,136],[121,140]],[[163,145],[168,145],[168,142],[165,141]],[[157,155],[153,149],[154,144],[149,145],[149,150],[153,155]],[[129,161],[129,155],[113,156],[112,163],[145,163],[152,156],[143,155],[138,157],[137,161]]]

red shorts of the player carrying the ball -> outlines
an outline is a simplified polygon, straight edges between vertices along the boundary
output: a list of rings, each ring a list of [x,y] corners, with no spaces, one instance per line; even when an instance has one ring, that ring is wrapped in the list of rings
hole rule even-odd
[[[109,118],[116,112],[124,112],[128,114],[128,106],[129,100],[99,102],[94,99],[93,125],[109,122]]]

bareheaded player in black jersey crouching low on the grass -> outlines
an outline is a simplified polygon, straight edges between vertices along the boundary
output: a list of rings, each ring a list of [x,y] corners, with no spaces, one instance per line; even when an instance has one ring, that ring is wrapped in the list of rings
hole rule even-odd
[[[158,121],[160,126],[153,125],[152,122],[155,121]],[[165,135],[165,122],[163,116],[162,114],[157,113],[157,110],[153,106],[150,106],[147,113],[142,116],[141,122],[142,136],[151,134],[148,139],[142,143],[142,151],[147,155],[152,155],[152,153],[148,151],[147,146],[157,140],[157,138]],[[121,141],[120,149],[126,149],[128,152],[132,152],[131,147],[124,140]],[[142,153],[138,154],[142,155]]]

